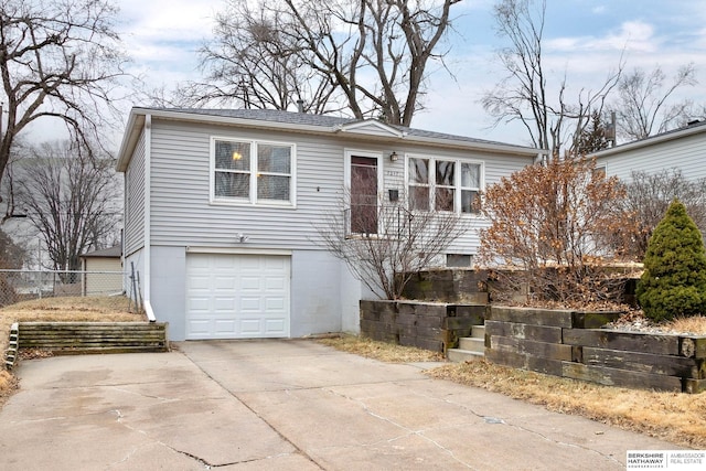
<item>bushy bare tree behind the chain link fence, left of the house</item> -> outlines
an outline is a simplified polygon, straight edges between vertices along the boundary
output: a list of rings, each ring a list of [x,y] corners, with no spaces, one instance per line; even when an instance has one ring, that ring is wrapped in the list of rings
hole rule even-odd
[[[105,248],[118,231],[115,162],[87,153],[71,141],[44,143],[12,169],[17,205],[44,240],[53,269],[79,269],[79,255]]]

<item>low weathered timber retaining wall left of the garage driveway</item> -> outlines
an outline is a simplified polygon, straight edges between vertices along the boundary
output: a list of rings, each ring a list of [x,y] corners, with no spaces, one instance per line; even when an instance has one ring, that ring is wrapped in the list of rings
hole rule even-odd
[[[54,354],[164,352],[163,322],[20,322],[19,347]]]

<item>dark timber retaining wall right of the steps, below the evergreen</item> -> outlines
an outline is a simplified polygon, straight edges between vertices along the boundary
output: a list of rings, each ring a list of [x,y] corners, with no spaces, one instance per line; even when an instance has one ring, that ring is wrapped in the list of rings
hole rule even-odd
[[[603,385],[706,392],[706,336],[599,329],[619,315],[492,306],[485,357]]]

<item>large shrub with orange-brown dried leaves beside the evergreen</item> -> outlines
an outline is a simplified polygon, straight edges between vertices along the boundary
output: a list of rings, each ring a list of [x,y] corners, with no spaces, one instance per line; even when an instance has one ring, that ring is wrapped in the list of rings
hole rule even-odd
[[[625,277],[616,267],[628,240],[616,234],[632,218],[616,201],[625,190],[593,169],[586,159],[553,159],[488,189],[483,214],[491,225],[481,233],[479,263],[501,292],[585,306],[622,290]]]

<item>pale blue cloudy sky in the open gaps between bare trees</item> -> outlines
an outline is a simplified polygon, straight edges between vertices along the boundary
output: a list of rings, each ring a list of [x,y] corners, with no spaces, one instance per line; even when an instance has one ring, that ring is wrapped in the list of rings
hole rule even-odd
[[[151,87],[168,89],[200,78],[196,51],[211,38],[223,0],[116,3],[131,73]],[[413,127],[530,143],[516,125],[491,127],[493,120],[479,103],[504,76],[496,51],[506,42],[494,31],[494,3],[462,0],[452,8],[454,32],[446,60],[453,76],[431,65],[426,109],[415,116]],[[566,76],[569,100],[581,89],[598,89],[621,60],[627,71],[652,71],[659,65],[667,76],[694,63],[699,84],[683,89],[677,98],[706,104],[706,0],[547,0],[544,57],[550,83]]]

